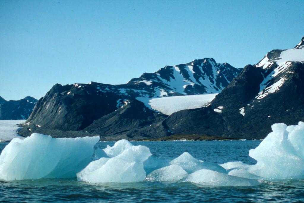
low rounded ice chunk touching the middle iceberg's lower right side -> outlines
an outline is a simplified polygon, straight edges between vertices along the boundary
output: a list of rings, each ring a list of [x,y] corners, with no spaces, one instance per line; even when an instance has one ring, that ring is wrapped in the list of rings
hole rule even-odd
[[[150,181],[172,181],[176,182],[186,177],[188,173],[178,165],[170,165],[157,170],[154,170],[150,173],[146,180]]]

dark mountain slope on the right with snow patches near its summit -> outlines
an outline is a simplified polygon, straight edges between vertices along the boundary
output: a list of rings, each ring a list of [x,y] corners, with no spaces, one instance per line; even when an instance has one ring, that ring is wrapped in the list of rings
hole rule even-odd
[[[304,37],[289,50],[272,50],[247,65],[209,106],[164,120],[174,134],[260,139],[274,123],[304,120]],[[183,120],[181,120],[183,118]]]

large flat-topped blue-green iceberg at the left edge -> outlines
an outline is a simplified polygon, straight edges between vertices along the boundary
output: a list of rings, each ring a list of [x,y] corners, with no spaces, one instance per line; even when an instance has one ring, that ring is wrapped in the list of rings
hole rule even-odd
[[[38,133],[14,138],[0,155],[0,179],[76,177],[90,163],[98,141],[99,136],[52,138]]]

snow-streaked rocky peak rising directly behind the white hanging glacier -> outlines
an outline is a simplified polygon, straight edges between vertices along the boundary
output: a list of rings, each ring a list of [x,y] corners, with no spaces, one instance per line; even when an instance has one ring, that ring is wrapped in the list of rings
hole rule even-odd
[[[218,64],[213,58],[204,58],[188,64],[165,66],[155,73],[144,73],[127,85],[132,89],[144,89],[146,92],[142,91],[141,96],[150,98],[219,93],[240,70],[228,63]]]

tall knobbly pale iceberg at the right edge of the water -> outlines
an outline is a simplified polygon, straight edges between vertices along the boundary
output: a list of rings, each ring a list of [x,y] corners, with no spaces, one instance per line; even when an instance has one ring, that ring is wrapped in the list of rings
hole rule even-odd
[[[304,123],[271,126],[272,132],[249,156],[257,160],[248,171],[267,179],[304,177]]]

